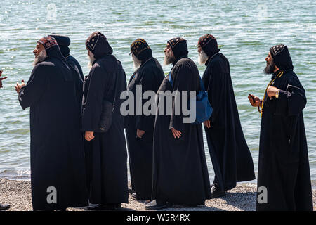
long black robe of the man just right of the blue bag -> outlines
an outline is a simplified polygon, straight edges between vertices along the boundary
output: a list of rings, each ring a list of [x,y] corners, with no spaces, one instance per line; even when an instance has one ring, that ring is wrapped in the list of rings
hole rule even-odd
[[[204,129],[215,172],[213,183],[220,191],[227,191],[235,188],[237,181],[256,179],[254,162],[240,124],[229,62],[216,53],[206,66],[203,82],[213,113],[211,128]]]

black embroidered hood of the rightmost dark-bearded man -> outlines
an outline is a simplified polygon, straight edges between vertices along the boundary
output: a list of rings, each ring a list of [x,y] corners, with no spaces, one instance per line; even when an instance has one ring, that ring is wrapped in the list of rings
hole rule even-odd
[[[289,49],[284,44],[272,46],[270,53],[275,62],[275,65],[280,70],[293,70],[294,66],[289,54]]]

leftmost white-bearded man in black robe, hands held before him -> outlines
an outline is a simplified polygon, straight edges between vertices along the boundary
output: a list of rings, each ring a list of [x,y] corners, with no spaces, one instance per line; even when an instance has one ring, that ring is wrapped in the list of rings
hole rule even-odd
[[[30,107],[33,209],[88,205],[72,70],[53,37],[40,39],[34,54],[29,81],[15,86],[22,108]]]

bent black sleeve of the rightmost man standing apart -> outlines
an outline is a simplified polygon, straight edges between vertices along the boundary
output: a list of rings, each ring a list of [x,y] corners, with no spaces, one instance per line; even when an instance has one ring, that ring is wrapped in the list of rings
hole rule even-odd
[[[279,90],[279,98],[276,99],[276,115],[298,115],[306,105],[306,96],[303,86],[297,77],[287,80],[287,88]]]

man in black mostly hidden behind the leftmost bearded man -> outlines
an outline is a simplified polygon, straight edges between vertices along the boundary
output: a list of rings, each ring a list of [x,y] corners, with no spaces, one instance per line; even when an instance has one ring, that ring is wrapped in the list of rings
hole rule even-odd
[[[82,86],[84,84],[84,74],[82,72],[81,66],[78,63],[78,61],[70,55],[70,49],[69,49],[69,45],[70,45],[70,38],[64,35],[60,35],[60,34],[49,34],[49,36],[53,37],[56,39],[58,46],[60,47],[60,51],[62,53],[62,56],[65,57],[66,62],[68,63],[68,65],[70,65],[71,69],[74,69],[74,81],[76,84],[76,98],[77,101],[79,103],[79,105],[81,105],[82,103]]]

